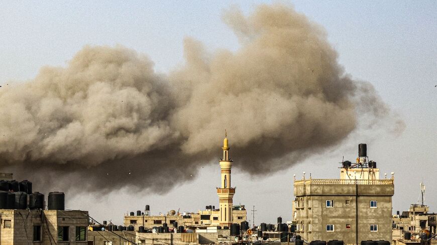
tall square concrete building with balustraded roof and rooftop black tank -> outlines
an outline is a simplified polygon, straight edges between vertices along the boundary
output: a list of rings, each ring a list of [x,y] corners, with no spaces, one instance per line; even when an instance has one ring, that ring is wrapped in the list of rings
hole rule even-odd
[[[294,180],[292,220],[305,240],[392,240],[394,177],[380,179],[361,150],[355,164],[343,162],[340,179]]]

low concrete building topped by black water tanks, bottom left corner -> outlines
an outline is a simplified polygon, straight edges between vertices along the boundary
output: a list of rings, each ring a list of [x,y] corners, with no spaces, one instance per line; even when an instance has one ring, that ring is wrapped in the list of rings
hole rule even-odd
[[[85,245],[87,214],[80,210],[0,209],[0,244]]]

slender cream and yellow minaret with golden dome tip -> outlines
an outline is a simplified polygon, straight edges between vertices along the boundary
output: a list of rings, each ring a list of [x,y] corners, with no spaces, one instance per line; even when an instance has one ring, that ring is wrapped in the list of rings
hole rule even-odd
[[[221,188],[217,187],[218,202],[220,204],[220,226],[230,227],[232,224],[232,198],[235,194],[235,187],[231,187],[231,168],[232,160],[229,158],[228,138],[225,130],[225,139],[223,140],[223,159],[220,159],[220,168],[222,169]]]

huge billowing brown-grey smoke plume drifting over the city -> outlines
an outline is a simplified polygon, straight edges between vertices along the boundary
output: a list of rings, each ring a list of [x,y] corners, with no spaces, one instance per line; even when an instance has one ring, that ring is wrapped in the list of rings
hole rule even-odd
[[[2,170],[60,188],[70,186],[64,177],[77,190],[162,192],[220,157],[225,128],[235,164],[265,173],[340,143],[357,111],[386,108],[372,87],[358,91],[370,85],[345,75],[323,29],[293,9],[231,10],[224,21],[237,52],[186,39],[186,64],[169,75],[127,48],[85,47],[65,68],[2,87]],[[360,107],[363,98],[372,103]]]

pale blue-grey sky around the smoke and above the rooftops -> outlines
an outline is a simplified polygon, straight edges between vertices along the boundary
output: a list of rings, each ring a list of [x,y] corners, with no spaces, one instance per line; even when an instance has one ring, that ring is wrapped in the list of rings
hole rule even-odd
[[[0,85],[32,79],[42,66],[65,66],[84,45],[121,44],[147,54],[160,73],[183,64],[183,39],[193,37],[210,50],[235,51],[238,40],[221,21],[224,9],[239,6],[249,14],[270,1],[71,1],[7,2],[0,0]],[[284,2],[289,4],[288,2]],[[419,183],[426,185],[425,202],[437,212],[437,2],[435,1],[298,1],[298,12],[323,26],[339,53],[339,63],[354,79],[371,82],[379,95],[404,120],[399,136],[384,130],[357,131],[344,144],[315,155],[272,176],[251,177],[233,171],[234,203],[255,205],[255,222],[291,218],[293,174],[338,178],[342,157],[353,160],[357,145],[368,143],[381,177],[395,172],[393,212],[418,200]],[[232,135],[229,136],[232,155]],[[216,159],[221,156],[217,142]],[[266,163],[268,164],[268,163]],[[23,176],[24,177],[24,176]],[[31,174],[25,178],[32,180]],[[214,182],[215,181],[215,182]],[[205,165],[191,182],[165,195],[113,192],[100,199],[84,194],[68,199],[67,207],[89,210],[99,220],[121,223],[126,211],[154,214],[170,209],[196,211],[218,205],[215,186],[218,162]],[[34,186],[38,190],[37,186]],[[252,214],[248,211],[248,218]],[[252,221],[251,221],[252,222]]]

